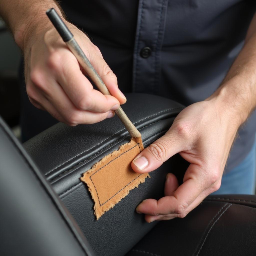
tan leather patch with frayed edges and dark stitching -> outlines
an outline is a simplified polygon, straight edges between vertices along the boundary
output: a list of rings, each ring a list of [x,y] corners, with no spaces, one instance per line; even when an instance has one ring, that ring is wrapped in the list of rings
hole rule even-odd
[[[95,202],[94,213],[97,220],[128,195],[131,189],[138,187],[146,177],[150,177],[148,173],[135,173],[131,167],[132,160],[143,149],[141,138],[132,138],[129,143],[105,156],[81,177]]]

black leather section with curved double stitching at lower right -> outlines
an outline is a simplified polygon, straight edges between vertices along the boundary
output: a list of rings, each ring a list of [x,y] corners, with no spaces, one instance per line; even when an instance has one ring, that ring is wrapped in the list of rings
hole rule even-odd
[[[207,197],[184,219],[158,224],[126,256],[256,254],[256,196]]]

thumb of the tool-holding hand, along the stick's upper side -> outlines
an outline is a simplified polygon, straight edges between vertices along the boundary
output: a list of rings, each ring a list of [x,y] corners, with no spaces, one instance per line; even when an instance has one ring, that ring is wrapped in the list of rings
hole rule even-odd
[[[91,63],[95,70],[98,72],[102,81],[109,89],[110,94],[119,100],[120,104],[124,104],[126,102],[126,98],[124,94],[119,90],[116,75],[110,69],[108,64],[103,59],[100,50],[97,49],[95,54],[91,54]]]

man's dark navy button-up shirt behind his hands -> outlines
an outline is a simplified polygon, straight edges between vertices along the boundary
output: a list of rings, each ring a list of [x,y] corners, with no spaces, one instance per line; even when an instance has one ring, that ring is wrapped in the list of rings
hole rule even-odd
[[[219,87],[256,10],[255,1],[245,0],[63,0],[61,6],[100,48],[123,92],[161,95],[186,106]],[[254,113],[226,171],[248,154],[255,130]]]

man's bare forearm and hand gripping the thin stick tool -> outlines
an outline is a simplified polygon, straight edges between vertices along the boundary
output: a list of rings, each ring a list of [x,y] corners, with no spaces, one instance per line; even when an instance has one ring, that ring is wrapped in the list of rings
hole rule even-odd
[[[30,102],[69,125],[95,123],[114,116],[113,110],[126,101],[116,76],[90,39],[65,21],[113,96],[93,89],[46,16],[51,7],[63,18],[59,5],[52,0],[0,1],[0,15],[24,53]]]

